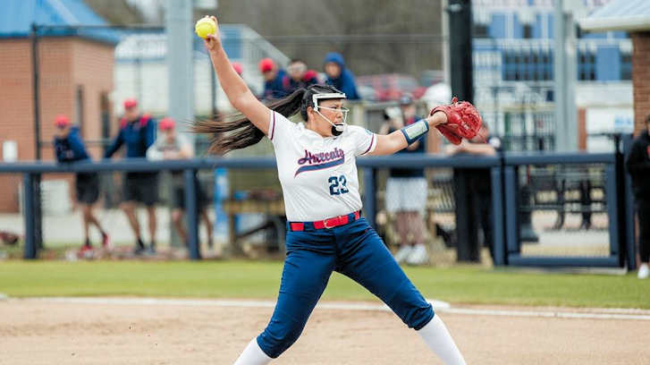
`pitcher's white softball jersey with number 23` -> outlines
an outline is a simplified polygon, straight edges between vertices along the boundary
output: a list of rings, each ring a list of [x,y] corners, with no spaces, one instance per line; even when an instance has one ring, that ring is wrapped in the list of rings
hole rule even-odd
[[[361,208],[356,157],[375,150],[374,133],[348,125],[338,137],[323,137],[305,123],[271,112],[266,137],[275,149],[290,222],[318,221]]]

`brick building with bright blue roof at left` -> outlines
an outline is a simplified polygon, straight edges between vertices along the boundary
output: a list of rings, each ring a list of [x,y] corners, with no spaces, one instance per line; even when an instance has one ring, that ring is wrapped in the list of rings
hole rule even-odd
[[[34,74],[31,24],[74,26],[106,25],[81,0],[7,0],[0,13],[0,161],[3,150],[17,146],[17,160],[36,158]],[[69,115],[80,126],[84,140],[102,137],[102,121],[110,120],[109,94],[113,90],[114,46],[117,39],[106,30],[50,29],[39,31],[40,140],[52,140],[55,115]],[[41,158],[54,159],[50,144]],[[90,148],[100,157],[98,148]],[[0,175],[0,212],[18,211],[21,176]]]

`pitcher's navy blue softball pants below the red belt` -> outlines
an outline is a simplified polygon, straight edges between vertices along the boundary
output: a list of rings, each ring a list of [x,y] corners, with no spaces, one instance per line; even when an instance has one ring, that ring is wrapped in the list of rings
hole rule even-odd
[[[434,310],[360,218],[330,229],[287,233],[280,293],[271,321],[257,344],[276,358],[295,343],[325,286],[337,271],[363,285],[416,330],[434,318]]]

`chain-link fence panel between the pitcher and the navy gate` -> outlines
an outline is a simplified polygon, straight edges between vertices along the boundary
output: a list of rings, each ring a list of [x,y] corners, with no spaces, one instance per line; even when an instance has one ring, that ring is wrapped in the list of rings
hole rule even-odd
[[[408,265],[492,265],[502,242],[494,242],[490,167],[398,166],[376,177],[376,225],[395,258]]]

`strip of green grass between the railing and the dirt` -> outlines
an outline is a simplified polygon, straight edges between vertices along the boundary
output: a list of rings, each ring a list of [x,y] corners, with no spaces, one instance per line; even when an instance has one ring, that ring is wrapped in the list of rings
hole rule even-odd
[[[427,297],[452,303],[650,309],[650,280],[636,276],[555,274],[482,267],[407,267]],[[152,296],[274,299],[282,263],[275,261],[0,261],[0,293],[30,296]],[[327,300],[370,300],[334,274]]]

